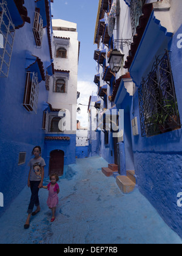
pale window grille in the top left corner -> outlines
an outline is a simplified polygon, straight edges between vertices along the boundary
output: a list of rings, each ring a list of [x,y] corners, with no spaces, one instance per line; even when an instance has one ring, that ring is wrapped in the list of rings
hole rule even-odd
[[[8,77],[12,59],[15,26],[8,16],[5,2],[0,2],[0,77]]]

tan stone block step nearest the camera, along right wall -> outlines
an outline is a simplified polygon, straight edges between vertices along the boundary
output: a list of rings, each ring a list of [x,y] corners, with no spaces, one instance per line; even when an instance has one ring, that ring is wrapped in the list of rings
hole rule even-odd
[[[124,194],[132,192],[135,188],[135,183],[127,176],[116,177],[116,183]]]

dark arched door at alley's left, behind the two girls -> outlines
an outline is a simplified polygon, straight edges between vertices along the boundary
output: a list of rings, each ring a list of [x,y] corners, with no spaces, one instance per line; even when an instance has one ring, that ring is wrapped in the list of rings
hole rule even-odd
[[[52,173],[63,176],[64,174],[64,151],[55,150],[50,152],[49,175]]]

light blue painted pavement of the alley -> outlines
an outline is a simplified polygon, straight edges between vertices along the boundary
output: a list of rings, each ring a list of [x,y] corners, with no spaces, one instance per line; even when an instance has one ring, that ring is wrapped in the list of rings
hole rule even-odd
[[[25,187],[0,218],[1,244],[181,244],[137,188],[123,194],[113,177],[101,172],[100,157],[76,160],[67,179],[59,180],[61,193],[56,220],[50,223],[47,190],[40,190],[41,212],[24,230],[30,189]],[[49,183],[45,179],[44,183]]]

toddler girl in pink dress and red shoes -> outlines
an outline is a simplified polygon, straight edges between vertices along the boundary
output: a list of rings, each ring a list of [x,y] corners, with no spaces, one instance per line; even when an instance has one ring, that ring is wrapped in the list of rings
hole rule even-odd
[[[50,175],[50,183],[47,186],[43,186],[45,190],[49,190],[49,197],[47,199],[47,205],[52,210],[52,219],[50,222],[55,221],[55,212],[56,212],[56,206],[58,205],[59,199],[59,185],[58,185],[59,177],[57,174],[51,174]]]

